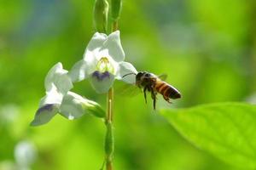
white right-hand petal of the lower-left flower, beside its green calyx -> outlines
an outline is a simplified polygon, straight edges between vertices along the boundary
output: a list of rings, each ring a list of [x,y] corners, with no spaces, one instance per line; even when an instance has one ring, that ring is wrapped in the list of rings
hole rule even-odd
[[[79,118],[84,115],[84,98],[79,94],[68,92],[61,103],[60,114],[69,120]]]

